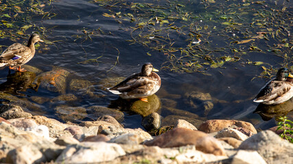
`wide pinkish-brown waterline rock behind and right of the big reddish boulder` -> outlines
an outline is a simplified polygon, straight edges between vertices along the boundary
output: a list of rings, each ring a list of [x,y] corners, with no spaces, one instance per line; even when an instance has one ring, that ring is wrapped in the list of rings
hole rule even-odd
[[[257,133],[257,130],[255,129],[253,124],[237,120],[207,120],[198,127],[198,131],[203,131],[205,133],[214,133],[221,131],[223,128],[228,128],[231,126],[237,126],[247,129],[253,134]]]

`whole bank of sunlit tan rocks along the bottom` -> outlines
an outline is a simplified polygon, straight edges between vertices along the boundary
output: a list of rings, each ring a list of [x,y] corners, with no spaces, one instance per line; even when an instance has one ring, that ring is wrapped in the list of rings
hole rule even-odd
[[[159,136],[110,115],[64,124],[16,105],[0,107],[0,163],[290,163],[293,145],[248,122],[177,120]],[[198,128],[198,130],[196,130]]]

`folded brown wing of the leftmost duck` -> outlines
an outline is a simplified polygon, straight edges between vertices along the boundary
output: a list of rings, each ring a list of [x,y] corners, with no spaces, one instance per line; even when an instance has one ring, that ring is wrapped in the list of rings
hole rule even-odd
[[[19,59],[24,53],[31,52],[31,49],[23,44],[14,43],[8,46],[0,56],[0,60]]]

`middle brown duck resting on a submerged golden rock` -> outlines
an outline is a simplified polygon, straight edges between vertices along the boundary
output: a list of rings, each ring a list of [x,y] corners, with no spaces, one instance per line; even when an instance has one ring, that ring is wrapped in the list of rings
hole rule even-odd
[[[141,72],[126,78],[115,87],[108,88],[113,94],[119,94],[121,98],[139,98],[148,102],[147,96],[156,93],[161,87],[161,78],[150,63],[143,64]]]

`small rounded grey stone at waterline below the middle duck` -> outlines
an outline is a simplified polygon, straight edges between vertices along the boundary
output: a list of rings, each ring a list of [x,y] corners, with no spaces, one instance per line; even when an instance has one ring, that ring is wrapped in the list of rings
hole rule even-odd
[[[154,128],[159,128],[161,126],[161,115],[158,113],[152,113],[141,121],[141,125],[146,131],[150,131]]]

